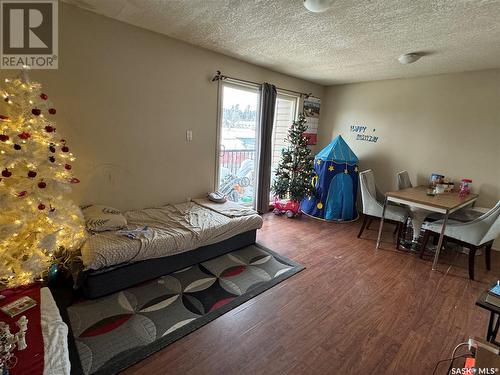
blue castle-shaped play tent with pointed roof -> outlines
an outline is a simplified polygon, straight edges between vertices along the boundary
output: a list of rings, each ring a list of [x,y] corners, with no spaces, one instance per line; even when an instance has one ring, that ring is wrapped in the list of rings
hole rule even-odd
[[[314,171],[311,183],[315,192],[302,200],[302,212],[328,221],[356,220],[358,157],[342,136],[338,135],[316,155]]]

